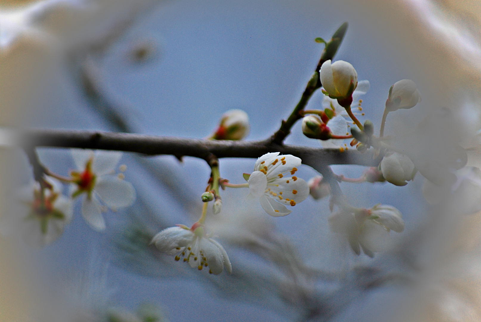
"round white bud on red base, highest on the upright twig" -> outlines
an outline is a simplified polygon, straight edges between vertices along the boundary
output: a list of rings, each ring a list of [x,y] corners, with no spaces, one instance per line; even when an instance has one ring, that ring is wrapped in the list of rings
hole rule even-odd
[[[357,72],[349,62],[326,61],[322,64],[321,83],[324,87],[324,94],[331,99],[346,99],[351,97],[357,87]]]

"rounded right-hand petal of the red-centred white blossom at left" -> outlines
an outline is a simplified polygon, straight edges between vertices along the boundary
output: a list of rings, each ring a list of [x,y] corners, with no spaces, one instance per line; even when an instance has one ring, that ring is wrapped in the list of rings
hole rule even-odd
[[[130,182],[113,175],[103,175],[98,178],[94,191],[109,208],[124,208],[135,201],[135,189]]]

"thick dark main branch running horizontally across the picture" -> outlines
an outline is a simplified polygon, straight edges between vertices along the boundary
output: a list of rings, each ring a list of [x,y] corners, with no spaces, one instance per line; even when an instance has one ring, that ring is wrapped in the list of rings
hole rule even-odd
[[[21,133],[21,140],[25,146],[30,147],[117,150],[146,155],[168,154],[177,158],[190,156],[204,160],[207,160],[211,153],[218,158],[259,158],[267,152],[280,152],[299,157],[304,164],[318,168],[318,171],[325,171],[321,165],[329,164],[377,166],[382,158],[380,156],[373,159],[371,151],[341,152],[339,149],[277,145],[270,140],[215,141],[98,131],[31,129]]]

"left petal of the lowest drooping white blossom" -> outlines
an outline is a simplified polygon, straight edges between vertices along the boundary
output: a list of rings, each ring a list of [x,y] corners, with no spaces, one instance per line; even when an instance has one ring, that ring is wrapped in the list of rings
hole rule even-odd
[[[161,252],[176,254],[178,247],[187,247],[192,243],[194,233],[180,227],[169,227],[153,236],[152,243]]]

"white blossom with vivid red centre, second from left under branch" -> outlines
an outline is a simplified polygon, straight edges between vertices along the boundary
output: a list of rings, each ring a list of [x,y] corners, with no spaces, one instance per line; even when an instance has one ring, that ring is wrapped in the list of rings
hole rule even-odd
[[[131,183],[113,175],[121,152],[72,149],[77,171],[72,171],[72,198],[82,198],[82,216],[92,229],[105,229],[100,200],[110,209],[131,206],[135,190]]]

